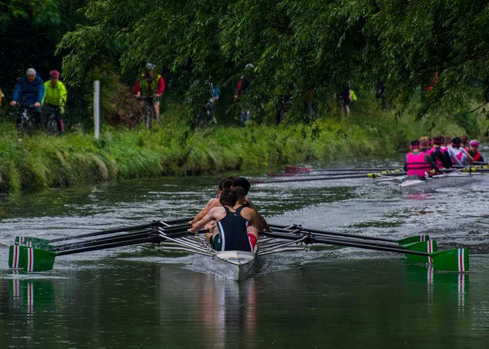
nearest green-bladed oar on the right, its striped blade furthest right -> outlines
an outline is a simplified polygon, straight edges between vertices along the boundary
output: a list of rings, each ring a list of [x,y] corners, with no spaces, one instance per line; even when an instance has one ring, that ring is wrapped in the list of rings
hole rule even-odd
[[[263,235],[273,238],[290,239],[290,234],[265,232]],[[412,251],[400,247],[372,246],[359,242],[348,242],[342,240],[327,239],[324,237],[311,236],[305,243],[324,243],[329,245],[356,247],[369,250],[402,253],[405,255],[422,256],[426,261],[432,261],[433,266],[440,270],[467,271],[468,270],[468,250],[466,248],[454,248],[449,250],[437,251],[433,253]],[[416,261],[418,262],[418,261]]]

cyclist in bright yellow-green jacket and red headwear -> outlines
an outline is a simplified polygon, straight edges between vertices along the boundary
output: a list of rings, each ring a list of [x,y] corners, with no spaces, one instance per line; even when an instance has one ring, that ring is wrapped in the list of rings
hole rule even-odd
[[[46,116],[47,127],[47,115],[49,115],[53,109],[56,110],[56,122],[58,123],[58,130],[63,132],[65,129],[65,123],[63,122],[63,115],[65,114],[65,106],[67,100],[67,91],[65,84],[60,80],[60,72],[58,70],[51,70],[49,72],[49,81],[44,83],[44,97],[41,102],[43,110]]]

